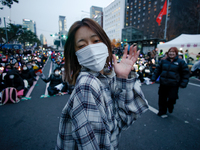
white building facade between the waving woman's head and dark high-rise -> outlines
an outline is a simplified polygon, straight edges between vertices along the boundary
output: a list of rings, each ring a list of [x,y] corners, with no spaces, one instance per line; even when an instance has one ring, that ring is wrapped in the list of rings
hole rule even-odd
[[[103,29],[110,40],[120,41],[124,28],[125,0],[115,0],[104,8]]]

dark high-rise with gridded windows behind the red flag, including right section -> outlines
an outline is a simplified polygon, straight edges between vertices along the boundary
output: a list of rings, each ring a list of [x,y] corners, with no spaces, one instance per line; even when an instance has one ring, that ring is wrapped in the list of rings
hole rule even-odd
[[[182,33],[199,34],[200,1],[168,1],[167,40]],[[156,22],[156,18],[163,8],[164,2],[165,0],[126,0],[124,28],[134,27],[142,31],[144,39],[163,39],[166,15],[162,17],[160,26]]]

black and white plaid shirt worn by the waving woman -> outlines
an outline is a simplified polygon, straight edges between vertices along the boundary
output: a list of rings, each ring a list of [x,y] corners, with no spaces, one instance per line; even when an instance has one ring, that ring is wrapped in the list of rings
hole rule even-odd
[[[148,109],[136,78],[82,68],[62,110],[57,150],[117,149],[122,129]]]

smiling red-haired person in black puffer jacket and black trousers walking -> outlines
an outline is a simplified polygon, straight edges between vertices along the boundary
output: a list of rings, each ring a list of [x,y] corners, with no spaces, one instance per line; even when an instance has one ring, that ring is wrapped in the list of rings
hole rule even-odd
[[[159,62],[152,81],[155,82],[160,76],[159,87],[159,112],[158,116],[167,117],[167,109],[169,113],[173,112],[174,104],[178,99],[179,87],[186,88],[189,81],[189,69],[184,60],[178,58],[178,49],[171,47],[168,50],[168,57]]]

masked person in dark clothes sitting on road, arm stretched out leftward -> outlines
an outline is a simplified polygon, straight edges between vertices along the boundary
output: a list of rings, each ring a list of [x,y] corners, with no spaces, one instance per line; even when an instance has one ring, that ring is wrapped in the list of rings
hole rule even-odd
[[[46,82],[46,83],[50,82],[49,87],[47,88],[50,96],[58,94],[61,91],[61,89],[56,88],[57,85],[63,83],[59,68],[56,68],[54,70],[54,73],[51,74],[48,79],[45,78],[44,74],[40,75],[40,77],[44,82]]]

